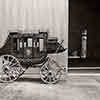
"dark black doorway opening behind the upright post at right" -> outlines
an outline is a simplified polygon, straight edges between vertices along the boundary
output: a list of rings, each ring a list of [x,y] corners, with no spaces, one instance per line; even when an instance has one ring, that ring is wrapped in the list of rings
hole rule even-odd
[[[100,67],[99,0],[69,0],[69,67]],[[87,29],[87,57],[81,56],[81,32]],[[73,52],[77,58],[70,58]]]

